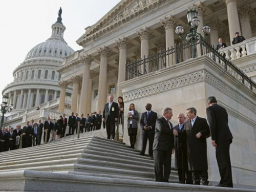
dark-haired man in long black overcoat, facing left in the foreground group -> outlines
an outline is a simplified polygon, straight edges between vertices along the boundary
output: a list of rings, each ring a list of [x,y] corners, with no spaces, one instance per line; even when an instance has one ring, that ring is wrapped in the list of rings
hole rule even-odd
[[[206,138],[210,135],[209,125],[206,119],[197,116],[195,108],[188,108],[186,114],[189,119],[185,122],[188,170],[193,171],[194,184],[200,185],[202,179],[203,185],[208,185]]]

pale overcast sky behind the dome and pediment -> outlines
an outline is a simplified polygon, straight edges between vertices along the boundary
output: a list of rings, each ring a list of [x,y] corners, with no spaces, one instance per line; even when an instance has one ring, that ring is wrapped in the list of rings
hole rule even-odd
[[[0,4],[0,102],[2,90],[13,82],[13,70],[24,61],[27,53],[51,36],[51,25],[62,8],[64,38],[76,50],[76,40],[84,28],[95,24],[120,0],[8,0]]]

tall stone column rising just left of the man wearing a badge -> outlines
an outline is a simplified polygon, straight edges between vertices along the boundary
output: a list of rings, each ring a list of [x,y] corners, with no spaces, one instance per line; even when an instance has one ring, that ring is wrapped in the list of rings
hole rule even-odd
[[[106,103],[106,96],[108,94],[108,54],[110,50],[108,47],[102,47],[99,50],[100,55],[100,70],[99,70],[99,95],[97,111],[103,110],[104,104]]]

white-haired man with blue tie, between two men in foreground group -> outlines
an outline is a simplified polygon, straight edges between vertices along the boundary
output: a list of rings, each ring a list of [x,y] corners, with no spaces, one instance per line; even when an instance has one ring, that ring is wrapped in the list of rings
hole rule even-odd
[[[174,130],[178,132],[178,136],[174,137],[175,149],[175,168],[178,170],[179,182],[186,184],[193,184],[192,172],[188,170],[187,166],[187,138],[185,132],[185,115],[178,114],[178,122],[174,126]]]

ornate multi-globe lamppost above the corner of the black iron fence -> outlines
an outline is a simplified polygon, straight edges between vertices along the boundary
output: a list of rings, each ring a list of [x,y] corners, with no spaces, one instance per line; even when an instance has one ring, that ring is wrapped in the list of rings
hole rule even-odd
[[[197,14],[198,12],[194,7],[190,8],[187,11],[187,20],[188,24],[190,25],[190,29],[185,34],[185,36],[182,36],[182,34],[184,33],[184,28],[182,27],[182,25],[178,25],[175,29],[175,32],[179,35],[180,38],[185,38],[192,45],[193,58],[197,57],[197,40],[203,38],[202,35],[197,32],[197,28],[200,24],[200,20],[197,18]],[[207,37],[207,35],[210,33],[210,26],[205,24],[202,31]]]

